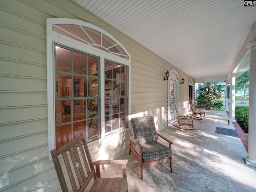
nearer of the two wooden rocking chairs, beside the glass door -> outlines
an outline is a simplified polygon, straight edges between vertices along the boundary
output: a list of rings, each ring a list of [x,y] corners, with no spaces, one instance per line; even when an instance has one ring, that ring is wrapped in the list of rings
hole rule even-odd
[[[180,132],[180,130],[188,130],[192,134],[195,134],[193,116],[180,116],[175,103],[172,102],[172,104],[176,114],[176,119],[178,120],[178,125],[176,124],[172,124],[172,125],[178,128],[177,132]]]

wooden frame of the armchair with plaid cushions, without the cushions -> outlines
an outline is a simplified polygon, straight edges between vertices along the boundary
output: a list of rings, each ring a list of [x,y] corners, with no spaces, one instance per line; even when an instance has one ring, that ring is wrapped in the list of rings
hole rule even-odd
[[[166,137],[164,137],[163,135],[161,134],[158,134],[157,135],[162,138],[163,140],[165,140],[166,142],[169,143],[169,148],[171,149],[172,146],[171,144],[173,144],[172,141],[168,140]],[[136,144],[139,148],[140,148],[140,152],[136,152],[134,150],[134,144]],[[138,162],[140,163],[140,179],[143,180],[143,169],[144,168],[148,168],[148,167],[153,167],[153,166],[157,166],[157,165],[162,165],[162,164],[166,164],[166,163],[170,163],[170,169],[171,169],[171,172],[172,172],[172,156],[166,156],[166,157],[163,157],[163,158],[155,158],[155,159],[150,159],[150,160],[144,160],[142,158],[142,152],[143,152],[143,144],[140,144],[138,142],[138,140],[136,140],[134,138],[134,136],[130,135],[130,147],[129,147],[129,155],[131,154],[134,154],[135,158],[138,160]]]

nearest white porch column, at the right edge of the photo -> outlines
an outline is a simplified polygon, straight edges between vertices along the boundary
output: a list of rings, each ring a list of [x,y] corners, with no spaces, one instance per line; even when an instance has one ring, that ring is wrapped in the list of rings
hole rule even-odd
[[[256,41],[250,42],[249,139],[246,164],[256,167]]]

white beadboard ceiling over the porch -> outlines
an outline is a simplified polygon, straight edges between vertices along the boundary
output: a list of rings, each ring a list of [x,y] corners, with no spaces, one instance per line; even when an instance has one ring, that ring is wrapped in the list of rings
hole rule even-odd
[[[74,1],[196,82],[238,77],[250,67],[256,6],[243,0]]]

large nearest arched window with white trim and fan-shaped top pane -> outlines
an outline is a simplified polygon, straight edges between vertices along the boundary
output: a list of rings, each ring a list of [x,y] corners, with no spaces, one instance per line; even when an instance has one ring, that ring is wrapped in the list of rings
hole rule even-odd
[[[47,20],[49,149],[128,127],[130,54],[108,32],[80,20]]]

